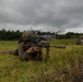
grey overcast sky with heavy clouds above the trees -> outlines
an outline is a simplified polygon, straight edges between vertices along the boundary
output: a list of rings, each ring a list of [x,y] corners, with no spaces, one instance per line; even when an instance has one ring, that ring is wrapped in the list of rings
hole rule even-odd
[[[83,0],[0,0],[0,30],[83,33]]]

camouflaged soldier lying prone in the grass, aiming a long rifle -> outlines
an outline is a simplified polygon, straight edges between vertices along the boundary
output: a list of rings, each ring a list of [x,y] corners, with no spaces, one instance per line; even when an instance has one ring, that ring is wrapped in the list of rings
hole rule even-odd
[[[43,60],[43,47],[46,48],[45,60],[49,58],[49,44],[38,38],[33,32],[24,32],[19,40],[19,48],[10,54],[20,56],[21,60],[36,59]]]

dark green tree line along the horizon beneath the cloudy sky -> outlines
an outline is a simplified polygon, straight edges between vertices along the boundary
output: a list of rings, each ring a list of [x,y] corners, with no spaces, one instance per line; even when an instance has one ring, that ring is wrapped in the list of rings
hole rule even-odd
[[[0,31],[0,40],[19,40],[23,32],[20,31]],[[50,32],[37,32],[38,35],[55,35],[58,39],[78,38],[82,33],[68,32],[66,34],[56,34]]]

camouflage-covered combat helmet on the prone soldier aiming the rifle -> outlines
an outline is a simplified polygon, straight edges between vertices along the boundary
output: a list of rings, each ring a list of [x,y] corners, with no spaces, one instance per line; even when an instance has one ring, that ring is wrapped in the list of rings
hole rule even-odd
[[[31,39],[36,38],[36,37],[37,37],[37,35],[34,34],[32,31],[25,31],[25,32],[23,33],[23,35],[22,35],[22,39],[23,39],[24,42],[31,40]]]

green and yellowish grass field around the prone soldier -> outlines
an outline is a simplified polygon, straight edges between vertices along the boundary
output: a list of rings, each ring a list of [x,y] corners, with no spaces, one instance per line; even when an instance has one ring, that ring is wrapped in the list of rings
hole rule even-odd
[[[74,45],[74,39],[49,43],[68,46],[50,48],[47,62],[21,61],[19,56],[0,54],[0,82],[83,82],[83,46]],[[0,51],[15,48],[17,42],[0,42]],[[45,49],[43,51],[45,57]]]

